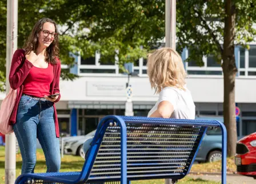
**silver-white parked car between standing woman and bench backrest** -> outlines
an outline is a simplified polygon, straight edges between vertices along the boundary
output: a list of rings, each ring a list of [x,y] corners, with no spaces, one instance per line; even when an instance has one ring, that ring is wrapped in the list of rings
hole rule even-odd
[[[87,152],[84,153],[83,145],[86,145],[86,150],[88,151],[90,148],[90,143],[93,141],[93,137],[95,135],[96,130],[91,131],[89,134],[70,137],[72,139],[67,139],[64,145],[64,153],[72,154],[72,155],[80,155],[85,158]]]

